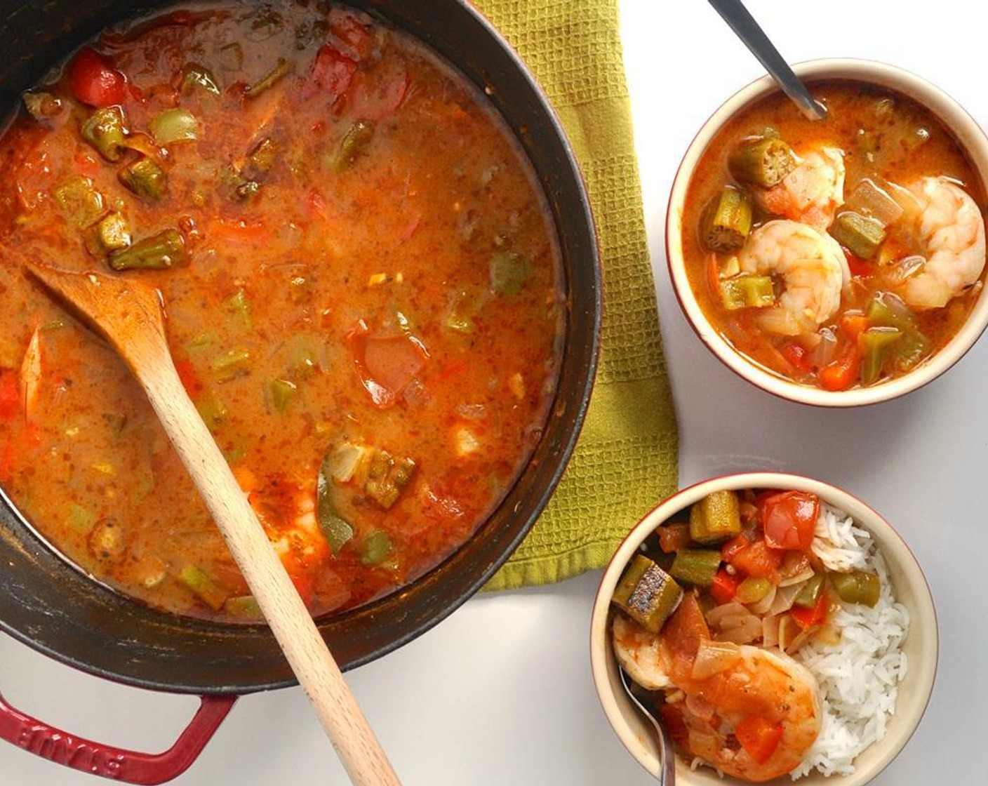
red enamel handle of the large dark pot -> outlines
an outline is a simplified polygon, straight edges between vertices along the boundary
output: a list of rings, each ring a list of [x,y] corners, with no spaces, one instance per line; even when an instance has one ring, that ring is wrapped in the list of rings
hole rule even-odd
[[[164,783],[178,777],[203,751],[236,696],[200,696],[185,731],[162,753],[140,753],[66,734],[10,706],[0,694],[0,739],[66,767],[125,783]]]

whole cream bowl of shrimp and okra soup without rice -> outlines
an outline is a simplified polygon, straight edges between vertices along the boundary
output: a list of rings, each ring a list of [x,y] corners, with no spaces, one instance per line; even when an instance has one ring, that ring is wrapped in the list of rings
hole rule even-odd
[[[765,77],[700,129],[676,176],[666,249],[701,341],[741,377],[826,406],[937,378],[988,324],[988,139],[892,66],[796,66],[809,121]]]

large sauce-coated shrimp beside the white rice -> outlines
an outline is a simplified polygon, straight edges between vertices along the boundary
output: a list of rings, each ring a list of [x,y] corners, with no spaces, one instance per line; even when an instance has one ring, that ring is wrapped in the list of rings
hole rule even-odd
[[[688,755],[760,782],[790,772],[816,742],[822,702],[812,673],[777,650],[710,642],[696,596],[660,633],[623,615],[612,631],[621,667],[666,691],[663,719]]]

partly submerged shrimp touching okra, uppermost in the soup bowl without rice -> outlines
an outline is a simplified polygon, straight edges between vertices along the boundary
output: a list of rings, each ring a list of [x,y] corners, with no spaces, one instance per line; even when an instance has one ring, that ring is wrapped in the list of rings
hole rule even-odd
[[[837,147],[811,150],[782,183],[757,197],[770,213],[825,231],[844,204],[844,153]]]

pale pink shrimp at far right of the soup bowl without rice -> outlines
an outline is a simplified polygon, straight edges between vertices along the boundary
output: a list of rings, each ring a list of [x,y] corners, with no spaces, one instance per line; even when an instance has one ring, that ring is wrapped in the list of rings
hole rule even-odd
[[[906,279],[902,298],[916,308],[947,306],[984,269],[984,218],[974,200],[947,178],[924,177],[910,191],[919,201],[915,230],[926,263]]]

